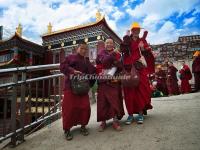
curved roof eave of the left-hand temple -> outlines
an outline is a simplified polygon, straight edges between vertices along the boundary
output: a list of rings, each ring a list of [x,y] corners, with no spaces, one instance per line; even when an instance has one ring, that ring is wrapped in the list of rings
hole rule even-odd
[[[9,39],[0,41],[0,52],[7,51],[16,47],[19,50],[31,51],[35,55],[42,56],[42,54],[44,53],[44,49],[41,45],[22,38],[16,32]]]

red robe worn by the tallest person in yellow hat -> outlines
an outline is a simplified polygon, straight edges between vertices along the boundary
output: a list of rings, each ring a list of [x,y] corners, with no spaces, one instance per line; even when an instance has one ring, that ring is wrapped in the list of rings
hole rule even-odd
[[[131,41],[130,52],[122,50],[123,53],[125,53],[123,63],[127,71],[130,71],[131,65],[135,64],[136,61],[140,58],[140,52],[138,48],[140,41],[143,41],[143,40],[138,38],[137,41],[133,41],[133,40]],[[148,44],[145,41],[143,42],[144,42],[144,47],[145,48],[148,47]],[[148,50],[142,53],[143,54],[150,53],[150,51]],[[147,65],[154,64],[153,61],[154,59],[148,60]],[[141,68],[138,70],[139,75],[140,75],[140,83],[138,87],[135,87],[135,88],[124,87],[125,104],[126,104],[126,108],[129,115],[142,112],[143,110],[152,109],[151,89],[150,89],[150,83],[148,79],[148,74],[152,73],[154,70],[154,66],[153,68],[151,68],[151,66],[148,66],[147,68]]]

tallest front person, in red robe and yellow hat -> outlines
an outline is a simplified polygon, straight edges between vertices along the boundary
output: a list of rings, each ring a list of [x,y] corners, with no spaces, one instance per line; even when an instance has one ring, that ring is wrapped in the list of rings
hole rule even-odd
[[[128,111],[126,124],[130,125],[133,120],[133,114],[138,114],[137,123],[143,123],[143,111],[152,109],[151,89],[148,74],[154,70],[154,57],[151,48],[145,38],[139,38],[140,25],[135,22],[131,27],[131,35],[123,38],[120,48],[123,54],[123,64],[127,71],[131,71],[132,65],[136,66],[139,71],[140,83],[138,87],[124,87],[124,99]],[[127,46],[127,43],[129,44]],[[141,52],[140,52],[141,51]],[[147,66],[140,61],[141,53],[145,56]],[[151,64],[151,65],[150,65]],[[151,68],[153,66],[153,68]],[[150,72],[151,70],[151,72]]]

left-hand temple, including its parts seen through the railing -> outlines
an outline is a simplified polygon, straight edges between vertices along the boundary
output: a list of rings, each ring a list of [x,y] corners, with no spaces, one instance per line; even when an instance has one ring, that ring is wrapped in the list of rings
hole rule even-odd
[[[1,28],[2,30],[2,28]],[[2,36],[2,35],[1,35]],[[0,39],[0,69],[14,68],[20,66],[31,66],[31,65],[42,65],[44,61],[45,50],[41,45],[33,43],[22,37],[22,26],[16,28],[16,32],[9,39]],[[43,73],[43,72],[42,72]],[[27,78],[38,77],[41,72],[27,73]],[[0,74],[0,85],[12,82],[13,76],[11,73],[1,73]],[[19,75],[20,78],[20,75]],[[33,85],[31,85],[33,87]],[[19,87],[18,87],[19,89]],[[17,96],[20,95],[20,90]],[[0,89],[0,136],[3,134],[3,111],[4,106],[7,105],[6,114],[6,132],[10,130],[10,120],[11,120],[11,101],[12,101],[12,88],[1,88]],[[34,94],[34,93],[33,93]],[[20,99],[20,98],[18,98]],[[26,105],[28,105],[26,97]],[[20,99],[21,100],[21,99]],[[20,106],[20,100],[17,100],[17,110]],[[31,103],[34,103],[34,99],[31,99]],[[5,104],[6,103],[6,104]],[[26,112],[25,124],[32,122],[34,119],[34,110],[31,112]],[[38,113],[38,116],[40,114]],[[18,120],[18,113],[17,118]]]

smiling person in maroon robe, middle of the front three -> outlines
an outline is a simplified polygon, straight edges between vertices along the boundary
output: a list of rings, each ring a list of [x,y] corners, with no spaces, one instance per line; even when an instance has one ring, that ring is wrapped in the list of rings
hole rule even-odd
[[[97,73],[105,76],[106,71],[116,67],[116,73],[122,69],[120,63],[120,53],[114,51],[114,42],[112,39],[105,41],[105,50],[98,54]],[[115,74],[116,74],[115,73]],[[115,75],[113,74],[113,75]],[[106,120],[113,119],[113,128],[121,131],[119,119],[124,115],[122,89],[119,80],[98,80],[97,89],[97,121],[101,122],[99,131],[106,128]]]

